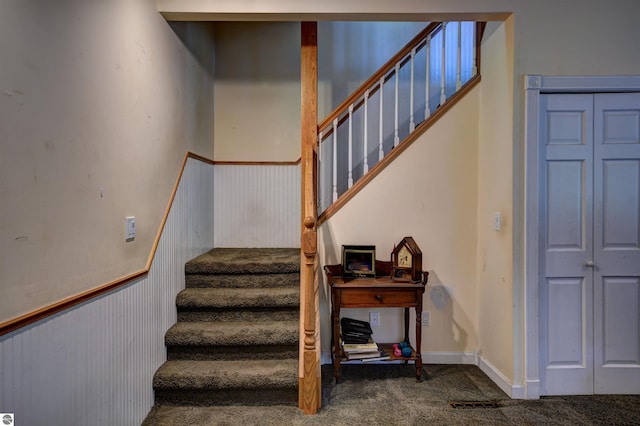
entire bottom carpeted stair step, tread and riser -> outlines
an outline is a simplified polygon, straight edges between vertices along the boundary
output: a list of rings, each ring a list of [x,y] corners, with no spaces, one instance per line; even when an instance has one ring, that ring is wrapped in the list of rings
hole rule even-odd
[[[291,405],[298,360],[167,361],[153,378],[156,405]]]

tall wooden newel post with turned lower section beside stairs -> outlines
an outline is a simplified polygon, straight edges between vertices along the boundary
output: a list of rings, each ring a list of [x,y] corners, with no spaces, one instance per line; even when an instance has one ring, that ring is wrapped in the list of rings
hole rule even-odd
[[[317,136],[318,136],[318,54],[317,23],[301,23],[301,183],[302,235],[300,294],[302,304],[302,357],[298,406],[305,414],[320,408],[320,350],[317,324]]]

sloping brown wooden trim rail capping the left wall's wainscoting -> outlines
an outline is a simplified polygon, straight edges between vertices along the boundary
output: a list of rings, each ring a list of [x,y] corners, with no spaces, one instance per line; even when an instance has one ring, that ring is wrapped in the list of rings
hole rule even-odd
[[[0,336],[11,333],[12,331],[18,330],[22,327],[38,322],[44,318],[50,317],[51,315],[70,309],[74,306],[87,302],[91,299],[95,299],[96,297],[99,297],[105,293],[108,293],[119,287],[127,285],[128,283],[134,280],[138,280],[140,278],[145,277],[149,273],[149,270],[151,269],[151,265],[153,264],[153,258],[155,257],[156,251],[158,250],[158,244],[160,243],[160,237],[162,236],[162,231],[164,230],[164,226],[167,223],[167,218],[169,217],[171,206],[173,205],[173,201],[176,197],[176,193],[178,192],[178,185],[180,184],[180,180],[182,179],[182,174],[184,173],[184,169],[187,165],[187,160],[189,158],[193,158],[193,159],[202,161],[204,163],[214,164],[213,160],[210,160],[206,157],[202,157],[198,154],[194,154],[192,152],[187,151],[187,153],[184,156],[184,159],[182,160],[180,172],[178,173],[176,182],[173,185],[173,190],[171,191],[171,196],[169,197],[169,201],[167,203],[167,208],[165,209],[164,216],[160,221],[158,232],[156,233],[155,240],[151,247],[151,253],[147,258],[147,263],[144,268],[140,269],[139,271],[133,272],[129,275],[125,275],[124,277],[117,278],[106,284],[102,284],[98,287],[92,288],[87,291],[83,291],[82,293],[75,294],[73,296],[62,299],[58,302],[44,306],[40,309],[36,309],[34,311],[31,311],[19,317],[10,319],[9,321],[5,321],[0,324]]]

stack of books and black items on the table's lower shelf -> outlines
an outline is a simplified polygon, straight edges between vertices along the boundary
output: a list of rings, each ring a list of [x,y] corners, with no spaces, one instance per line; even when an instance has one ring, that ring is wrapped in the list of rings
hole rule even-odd
[[[378,347],[371,335],[371,326],[366,321],[342,318],[340,321],[342,352],[349,360],[381,361],[389,354]]]

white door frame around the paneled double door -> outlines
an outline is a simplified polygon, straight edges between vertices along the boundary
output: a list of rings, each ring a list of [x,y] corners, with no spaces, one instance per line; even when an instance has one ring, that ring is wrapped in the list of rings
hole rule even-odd
[[[540,166],[538,138],[540,94],[640,92],[640,76],[543,76],[525,75],[524,79],[524,367],[526,399],[540,398],[540,333],[538,254],[540,223]],[[518,165],[514,163],[517,168]],[[514,169],[514,174],[517,171]],[[517,351],[516,351],[517,353]],[[516,365],[517,360],[514,360]]]

